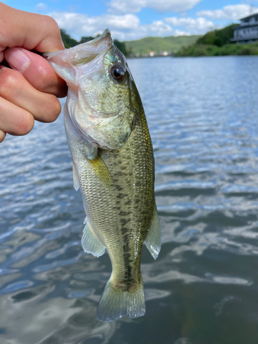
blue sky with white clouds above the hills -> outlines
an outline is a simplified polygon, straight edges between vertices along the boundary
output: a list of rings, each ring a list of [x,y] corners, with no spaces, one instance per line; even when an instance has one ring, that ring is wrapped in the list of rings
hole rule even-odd
[[[53,17],[74,39],[109,28],[114,39],[204,34],[258,12],[258,0],[9,0],[8,6]]]

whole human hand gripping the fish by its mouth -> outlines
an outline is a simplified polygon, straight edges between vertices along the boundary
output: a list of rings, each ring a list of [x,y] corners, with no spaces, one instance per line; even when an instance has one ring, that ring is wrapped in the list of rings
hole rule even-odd
[[[66,96],[67,86],[35,52],[63,49],[54,19],[0,3],[0,142],[6,133],[29,133],[34,120],[56,120],[61,112],[57,97]],[[3,65],[5,58],[12,69]]]

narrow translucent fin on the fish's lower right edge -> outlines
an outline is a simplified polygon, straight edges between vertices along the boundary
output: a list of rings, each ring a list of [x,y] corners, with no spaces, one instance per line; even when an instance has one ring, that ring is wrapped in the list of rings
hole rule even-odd
[[[152,257],[156,259],[160,253],[161,246],[160,222],[156,206],[151,219],[151,227],[149,228],[149,232],[144,242],[149,252],[151,252]]]

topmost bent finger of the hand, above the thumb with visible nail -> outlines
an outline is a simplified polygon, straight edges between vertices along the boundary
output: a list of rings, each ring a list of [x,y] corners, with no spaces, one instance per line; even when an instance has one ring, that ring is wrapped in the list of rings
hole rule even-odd
[[[60,30],[52,17],[16,10],[4,3],[0,3],[0,13],[0,51],[5,47],[25,47],[38,52],[64,49]]]

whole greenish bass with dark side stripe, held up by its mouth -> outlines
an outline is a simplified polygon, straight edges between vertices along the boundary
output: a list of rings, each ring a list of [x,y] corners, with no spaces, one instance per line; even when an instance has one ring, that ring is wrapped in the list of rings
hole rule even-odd
[[[153,147],[136,83],[108,29],[45,57],[68,86],[63,112],[74,188],[86,213],[83,250],[96,257],[107,250],[111,259],[96,317],[143,316],[142,244],[156,259],[161,235]]]

